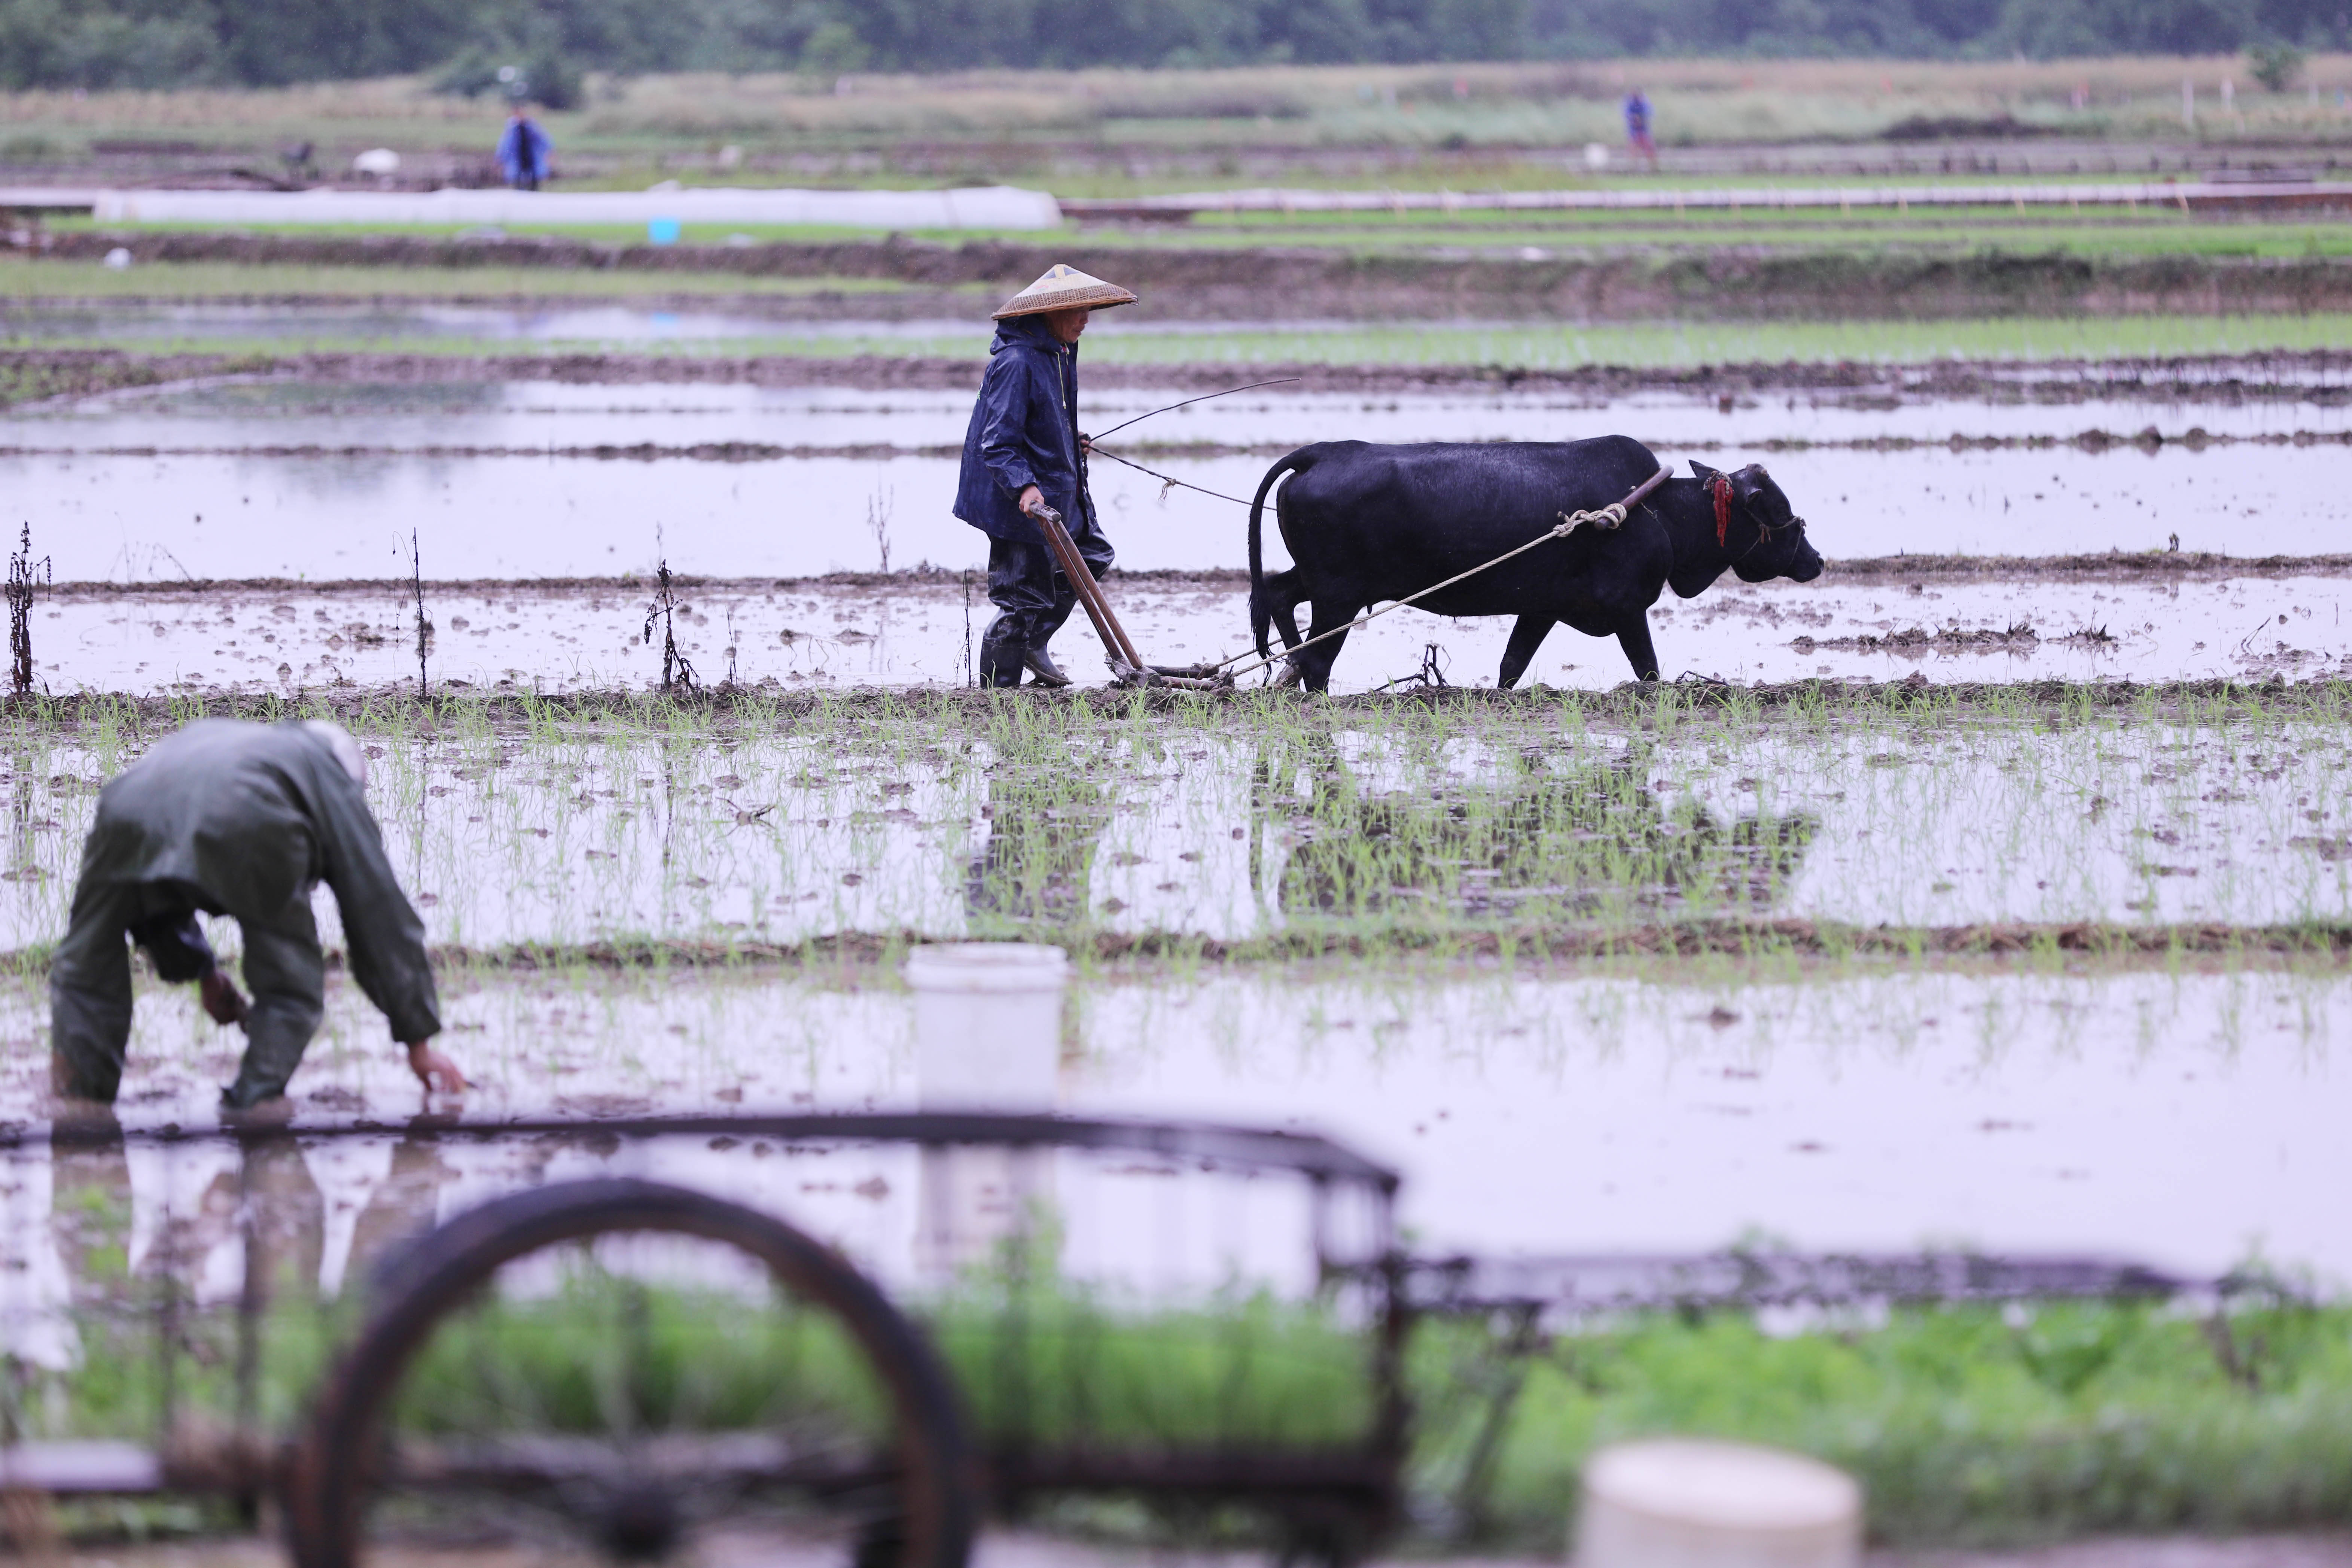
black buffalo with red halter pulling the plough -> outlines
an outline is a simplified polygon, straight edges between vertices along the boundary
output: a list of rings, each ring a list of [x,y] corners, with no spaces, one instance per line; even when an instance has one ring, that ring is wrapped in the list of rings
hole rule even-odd
[[[1265,628],[1298,646],[1296,609],[1315,604],[1308,637],[1348,625],[1364,609],[1404,599],[1552,529],[1562,512],[1623,501],[1658,473],[1649,447],[1623,435],[1590,442],[1494,442],[1371,447],[1317,442],[1265,470],[1249,503],[1249,630],[1265,656]],[[1566,621],[1588,637],[1616,637],[1639,679],[1658,679],[1649,607],[1672,585],[1684,599],[1724,567],[1745,583],[1785,576],[1811,583],[1820,555],[1804,520],[1771,477],[1750,463],[1733,475],[1691,463],[1693,480],[1668,480],[1625,527],[1581,527],[1468,583],[1421,599],[1439,616],[1517,616],[1498,686],[1517,684],[1545,632]],[[1282,475],[1275,517],[1296,562],[1265,576],[1261,515]],[[1308,691],[1331,682],[1345,632],[1291,654]]]

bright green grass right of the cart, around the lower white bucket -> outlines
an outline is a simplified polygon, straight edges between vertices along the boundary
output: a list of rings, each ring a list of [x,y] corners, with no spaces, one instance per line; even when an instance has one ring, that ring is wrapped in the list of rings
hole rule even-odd
[[[1896,1544],[2352,1519],[2352,1314],[2258,1309],[2230,1335],[2234,1354],[2253,1347],[2241,1380],[2204,1324],[2161,1307],[1832,1314],[1788,1338],[1740,1314],[1649,1316],[1571,1335],[1510,1425],[1496,1533],[1562,1544],[1581,1458],[1644,1434],[1820,1455],[1863,1481],[1870,1533]],[[1425,1448],[1425,1483],[1439,1472]]]

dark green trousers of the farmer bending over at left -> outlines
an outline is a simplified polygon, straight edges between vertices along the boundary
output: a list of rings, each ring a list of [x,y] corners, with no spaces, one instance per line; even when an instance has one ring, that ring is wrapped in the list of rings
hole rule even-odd
[[[49,1053],[59,1093],[113,1103],[132,1039],[132,933],[174,929],[195,912],[193,889],[85,882],[73,924],[49,964]],[[278,910],[226,910],[245,936],[245,1063],[221,1103],[245,1110],[287,1091],[327,1011],[327,957],[308,889]],[[143,943],[165,980],[200,980],[209,964],[183,943]]]

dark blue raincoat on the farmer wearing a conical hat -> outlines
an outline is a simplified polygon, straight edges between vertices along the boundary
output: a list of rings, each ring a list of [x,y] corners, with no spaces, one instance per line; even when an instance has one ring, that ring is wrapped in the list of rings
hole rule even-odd
[[[1042,315],[997,322],[981,400],[964,433],[964,473],[955,515],[988,534],[1044,548],[1044,534],[1021,512],[1035,484],[1070,534],[1094,520],[1077,463],[1077,343],[1063,343]]]

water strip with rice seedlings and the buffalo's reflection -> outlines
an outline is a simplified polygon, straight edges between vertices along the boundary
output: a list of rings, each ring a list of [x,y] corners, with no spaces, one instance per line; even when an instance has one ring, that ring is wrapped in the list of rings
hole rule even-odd
[[[1065,766],[793,724],[720,745],[376,736],[369,799],[430,938],[470,947],[2352,917],[2352,755],[2310,719],[1661,741],[1538,712],[1510,741],[1374,719],[1178,733],[1105,726]],[[0,950],[64,929],[96,788],[132,752],[9,759]],[[336,940],[332,896],[318,905]]]

